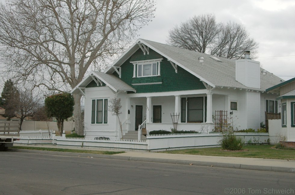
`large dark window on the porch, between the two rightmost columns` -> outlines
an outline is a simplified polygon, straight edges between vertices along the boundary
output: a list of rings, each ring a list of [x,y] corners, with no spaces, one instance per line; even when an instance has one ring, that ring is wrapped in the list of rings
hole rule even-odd
[[[181,98],[181,122],[203,122],[204,114],[206,116],[204,106],[204,97]]]

